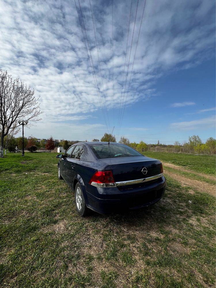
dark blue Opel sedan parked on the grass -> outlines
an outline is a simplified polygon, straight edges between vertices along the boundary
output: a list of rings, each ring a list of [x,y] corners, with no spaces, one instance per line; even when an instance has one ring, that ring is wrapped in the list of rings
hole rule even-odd
[[[149,206],[166,189],[162,163],[120,143],[80,142],[56,158],[58,178],[75,191],[81,216]]]

